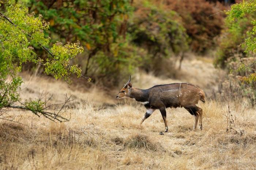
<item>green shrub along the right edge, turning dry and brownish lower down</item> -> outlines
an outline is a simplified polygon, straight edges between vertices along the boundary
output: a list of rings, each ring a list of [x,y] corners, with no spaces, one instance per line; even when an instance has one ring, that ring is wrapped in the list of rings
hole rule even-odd
[[[215,59],[217,66],[233,71],[225,81],[230,84],[232,94],[240,92],[250,100],[252,106],[256,101],[255,3],[255,0],[249,0],[231,6]]]

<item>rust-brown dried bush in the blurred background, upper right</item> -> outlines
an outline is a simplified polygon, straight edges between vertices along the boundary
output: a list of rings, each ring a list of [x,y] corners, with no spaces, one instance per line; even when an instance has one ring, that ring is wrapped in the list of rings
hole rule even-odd
[[[164,4],[182,17],[193,51],[205,52],[215,46],[214,37],[221,33],[227,7],[206,0],[166,0]]]

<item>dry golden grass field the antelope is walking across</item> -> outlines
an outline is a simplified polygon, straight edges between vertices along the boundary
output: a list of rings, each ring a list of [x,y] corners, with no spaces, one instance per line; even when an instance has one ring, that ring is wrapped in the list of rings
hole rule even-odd
[[[180,80],[141,73],[132,75],[133,87],[190,82],[210,94],[219,71],[211,63],[191,62],[184,61]],[[160,112],[139,126],[146,109],[130,99],[115,99],[121,87],[105,93],[49,77],[23,78],[22,99],[35,98],[40,90],[59,103],[72,94],[72,107],[66,108],[71,120],[54,123],[10,109],[8,114],[25,125],[0,120],[0,169],[256,169],[256,110],[242,99],[230,104],[236,126],[246,132],[242,136],[226,133],[227,103],[219,99],[199,103],[202,131],[198,126],[192,131],[194,118],[184,108],[168,108],[169,131],[159,135],[165,130]]]

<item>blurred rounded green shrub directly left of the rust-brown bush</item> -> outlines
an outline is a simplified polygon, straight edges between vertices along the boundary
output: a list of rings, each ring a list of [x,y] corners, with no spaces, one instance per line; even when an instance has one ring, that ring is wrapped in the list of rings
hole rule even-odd
[[[136,1],[134,6],[128,23],[131,41],[147,51],[142,68],[157,73],[162,70],[159,66],[167,64],[165,59],[188,50],[188,36],[176,12],[148,0]]]

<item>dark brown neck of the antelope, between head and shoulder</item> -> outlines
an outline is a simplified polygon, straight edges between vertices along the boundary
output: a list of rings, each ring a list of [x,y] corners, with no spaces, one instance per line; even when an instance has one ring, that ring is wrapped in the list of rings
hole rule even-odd
[[[148,102],[148,90],[139,88],[131,88],[130,98],[135,99],[137,102]]]

